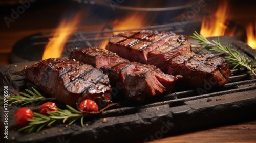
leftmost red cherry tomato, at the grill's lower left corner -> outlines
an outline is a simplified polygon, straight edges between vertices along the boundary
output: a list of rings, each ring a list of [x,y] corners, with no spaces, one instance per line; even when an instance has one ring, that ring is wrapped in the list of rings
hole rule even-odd
[[[30,122],[27,119],[33,118],[34,114],[33,114],[33,111],[28,109],[27,107],[22,107],[15,112],[14,117],[15,117],[15,122],[19,126],[24,127],[29,125]]]

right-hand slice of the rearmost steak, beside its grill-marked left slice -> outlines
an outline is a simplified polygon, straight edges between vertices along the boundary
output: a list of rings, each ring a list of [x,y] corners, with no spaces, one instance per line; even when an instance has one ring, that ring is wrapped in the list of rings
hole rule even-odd
[[[169,68],[169,60],[182,54],[191,52],[191,46],[184,35],[172,36],[164,45],[148,52],[147,62],[157,68],[160,68],[164,73]]]

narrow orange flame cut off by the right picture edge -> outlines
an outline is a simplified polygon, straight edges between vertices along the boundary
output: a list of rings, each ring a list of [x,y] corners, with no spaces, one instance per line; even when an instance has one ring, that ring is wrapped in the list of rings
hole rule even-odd
[[[246,34],[247,34],[247,44],[253,49],[256,49],[256,23],[254,25],[254,28],[252,23],[250,23],[246,27]]]

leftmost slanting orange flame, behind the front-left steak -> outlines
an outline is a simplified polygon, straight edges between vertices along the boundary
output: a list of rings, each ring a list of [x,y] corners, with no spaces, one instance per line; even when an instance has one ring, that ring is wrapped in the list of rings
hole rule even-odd
[[[80,19],[80,14],[77,14],[72,20],[65,19],[60,22],[53,38],[50,39],[49,43],[45,47],[42,60],[61,57],[62,50],[65,46],[64,41],[69,38],[70,34],[77,30]]]

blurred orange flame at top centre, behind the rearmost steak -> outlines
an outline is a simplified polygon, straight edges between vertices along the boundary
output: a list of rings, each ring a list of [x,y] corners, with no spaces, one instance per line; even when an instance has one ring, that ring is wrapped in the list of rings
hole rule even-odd
[[[147,16],[147,13],[136,12],[132,15],[128,15],[128,16],[124,16],[123,18],[116,19],[112,23],[113,30],[125,30],[125,29],[135,29],[139,27],[144,27],[146,26],[146,24],[150,23],[150,21],[147,21],[148,18],[146,18],[146,16]],[[113,34],[116,34],[116,33],[119,33],[119,32],[114,32]],[[100,47],[105,49],[105,46],[106,44],[108,44],[108,42],[109,42],[109,39],[102,41],[100,43]]]

